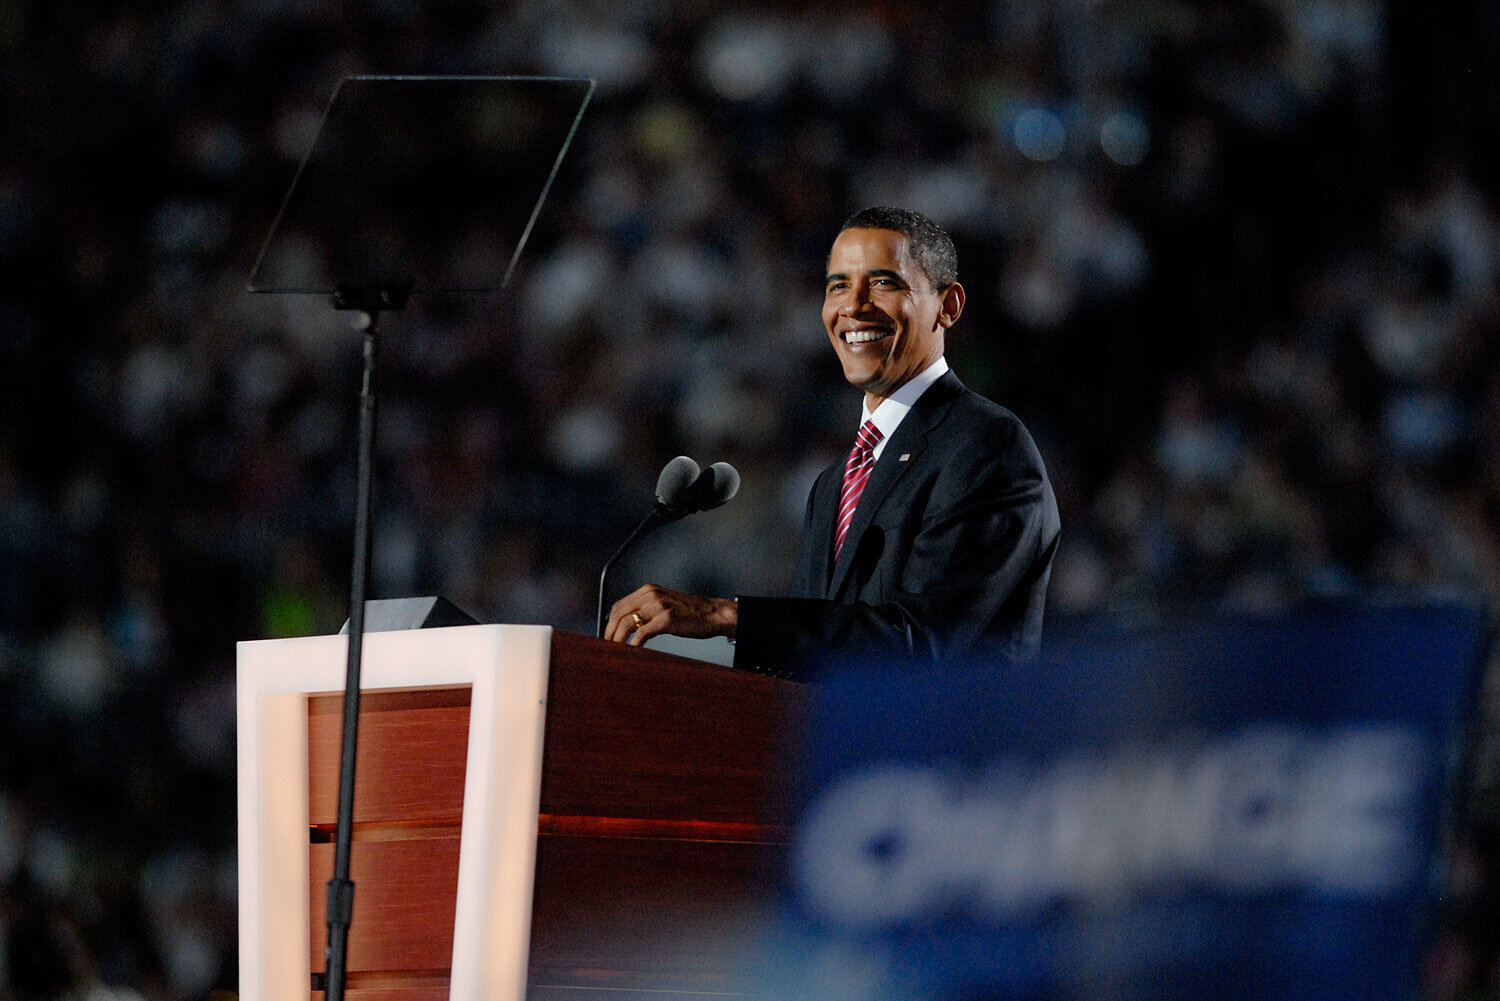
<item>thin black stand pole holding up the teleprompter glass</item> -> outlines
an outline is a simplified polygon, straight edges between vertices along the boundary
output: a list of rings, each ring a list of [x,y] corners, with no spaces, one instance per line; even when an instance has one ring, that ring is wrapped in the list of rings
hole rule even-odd
[[[360,656],[364,647],[364,593],[370,575],[370,492],[375,471],[375,348],[381,311],[400,309],[411,281],[375,288],[339,285],[334,309],[357,311],[356,327],[364,332],[364,377],[360,383],[358,491],[354,500],[354,572],[350,578],[350,648],[344,680],[344,738],[339,747],[339,818],[328,879],[328,947],[324,953],[326,1001],[344,1001],[350,924],[354,921],[354,881],[350,879],[350,840],[354,827],[354,761],[360,737]]]

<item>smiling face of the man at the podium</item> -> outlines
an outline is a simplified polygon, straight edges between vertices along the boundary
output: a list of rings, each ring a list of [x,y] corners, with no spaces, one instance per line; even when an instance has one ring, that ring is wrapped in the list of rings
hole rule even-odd
[[[894,230],[844,230],[828,254],[824,329],[870,410],[942,356],[963,288],[932,287]]]

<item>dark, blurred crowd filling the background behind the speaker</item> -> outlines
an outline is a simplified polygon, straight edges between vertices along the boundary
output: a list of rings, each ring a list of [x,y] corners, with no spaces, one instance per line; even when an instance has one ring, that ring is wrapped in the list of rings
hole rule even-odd
[[[513,284],[384,323],[378,594],[586,632],[678,453],[744,489],[621,587],[774,593],[884,203],[958,243],[1059,624],[1500,608],[1497,56],[1479,0],[0,0],[0,1001],[234,987],[234,641],[345,615],[360,365],[244,288],[340,77],[598,81]],[[1432,998],[1500,996],[1479,716]]]

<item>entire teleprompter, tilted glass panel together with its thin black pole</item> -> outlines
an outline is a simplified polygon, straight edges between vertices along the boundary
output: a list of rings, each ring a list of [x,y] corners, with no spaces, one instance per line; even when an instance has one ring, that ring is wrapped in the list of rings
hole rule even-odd
[[[376,318],[406,305],[414,275],[422,275],[423,291],[500,291],[510,282],[592,92],[594,81],[582,78],[346,77],[250,270],[255,293],[332,291],[336,309],[362,314],[357,326],[364,333],[327,972],[309,984],[326,1001],[344,1001],[354,920],[350,842],[374,534]],[[496,108],[502,128],[464,128],[476,116],[494,117]],[[452,255],[459,248],[444,234],[458,221],[480,227],[476,233],[494,254],[464,254],[464,266],[454,267]],[[374,240],[364,236],[372,222],[380,233]],[[464,225],[468,233],[470,224]],[[406,233],[408,227],[416,233]],[[506,263],[480,260],[506,248]]]

